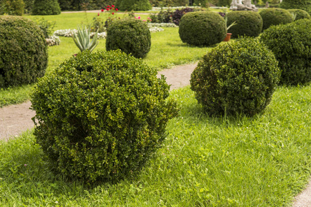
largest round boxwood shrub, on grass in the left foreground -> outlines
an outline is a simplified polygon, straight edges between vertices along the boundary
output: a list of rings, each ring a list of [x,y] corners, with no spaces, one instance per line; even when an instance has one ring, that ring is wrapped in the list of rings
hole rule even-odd
[[[120,50],[80,52],[32,93],[35,136],[62,175],[89,181],[134,175],[177,115],[165,78]]]

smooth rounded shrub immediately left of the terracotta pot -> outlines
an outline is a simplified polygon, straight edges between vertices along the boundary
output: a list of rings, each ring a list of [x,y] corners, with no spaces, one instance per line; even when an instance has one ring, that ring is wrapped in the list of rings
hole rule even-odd
[[[189,12],[180,19],[179,36],[184,43],[211,46],[223,41],[226,35],[225,19],[216,12]]]

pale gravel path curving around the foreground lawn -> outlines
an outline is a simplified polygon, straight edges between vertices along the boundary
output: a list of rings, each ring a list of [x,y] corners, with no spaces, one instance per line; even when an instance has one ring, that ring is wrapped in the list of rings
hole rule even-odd
[[[167,83],[171,85],[171,90],[189,85],[192,71],[196,64],[177,66],[172,69],[164,69],[158,72],[158,77],[164,75],[167,77]],[[30,110],[31,103],[27,101],[18,105],[6,106],[0,108],[0,139],[12,139],[21,132],[31,129],[34,124],[31,120],[35,112]],[[311,206],[311,181],[308,186],[297,195],[293,207]]]

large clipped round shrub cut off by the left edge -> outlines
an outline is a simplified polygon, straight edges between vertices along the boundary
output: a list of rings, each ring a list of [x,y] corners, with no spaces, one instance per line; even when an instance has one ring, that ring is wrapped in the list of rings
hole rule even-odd
[[[32,83],[44,76],[48,48],[35,22],[17,16],[0,17],[0,88]]]

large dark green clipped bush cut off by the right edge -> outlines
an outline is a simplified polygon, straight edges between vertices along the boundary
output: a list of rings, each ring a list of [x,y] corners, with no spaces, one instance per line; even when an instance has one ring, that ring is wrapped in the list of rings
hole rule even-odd
[[[301,19],[272,26],[261,34],[264,43],[279,61],[281,83],[296,85],[311,80],[311,20]]]

